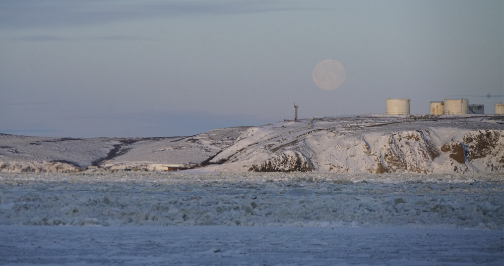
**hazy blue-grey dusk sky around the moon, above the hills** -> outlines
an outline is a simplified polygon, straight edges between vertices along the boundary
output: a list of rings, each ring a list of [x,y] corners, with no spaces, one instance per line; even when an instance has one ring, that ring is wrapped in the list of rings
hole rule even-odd
[[[504,101],[504,2],[3,0],[0,133],[189,136]],[[345,83],[312,70],[339,61]],[[486,95],[490,94],[490,97]],[[498,96],[500,95],[500,96]]]

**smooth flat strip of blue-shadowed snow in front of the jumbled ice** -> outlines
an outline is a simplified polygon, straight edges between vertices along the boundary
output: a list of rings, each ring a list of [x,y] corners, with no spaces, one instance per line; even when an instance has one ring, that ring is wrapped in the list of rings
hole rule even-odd
[[[347,227],[0,226],[0,264],[502,265],[502,232]]]

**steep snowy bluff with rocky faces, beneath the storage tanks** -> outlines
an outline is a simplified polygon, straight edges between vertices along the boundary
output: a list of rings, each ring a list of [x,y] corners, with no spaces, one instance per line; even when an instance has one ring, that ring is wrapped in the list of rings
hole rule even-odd
[[[249,128],[215,171],[504,173],[504,118],[370,116]]]

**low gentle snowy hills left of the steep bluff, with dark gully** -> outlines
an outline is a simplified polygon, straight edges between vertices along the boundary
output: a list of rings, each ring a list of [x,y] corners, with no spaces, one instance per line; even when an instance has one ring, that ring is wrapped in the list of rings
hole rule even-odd
[[[191,137],[50,138],[0,134],[0,172],[73,172],[194,167],[232,145],[248,127],[211,130]]]

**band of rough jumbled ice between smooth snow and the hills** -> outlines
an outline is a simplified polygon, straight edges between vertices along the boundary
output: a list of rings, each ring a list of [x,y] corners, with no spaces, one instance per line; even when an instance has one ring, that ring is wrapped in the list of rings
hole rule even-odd
[[[0,175],[2,225],[363,226],[502,230],[500,175]]]

